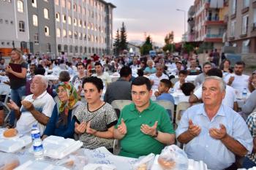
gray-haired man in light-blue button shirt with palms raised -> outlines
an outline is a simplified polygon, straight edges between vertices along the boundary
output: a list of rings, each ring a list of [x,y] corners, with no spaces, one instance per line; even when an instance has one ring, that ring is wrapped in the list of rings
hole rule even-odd
[[[252,136],[243,118],[222,104],[225,86],[220,77],[206,77],[203,104],[187,109],[176,129],[188,158],[203,161],[208,169],[237,169],[236,155],[252,152]]]

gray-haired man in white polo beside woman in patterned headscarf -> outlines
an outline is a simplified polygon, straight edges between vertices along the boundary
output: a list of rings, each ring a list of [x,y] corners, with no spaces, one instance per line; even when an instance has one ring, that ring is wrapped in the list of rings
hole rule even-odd
[[[12,100],[7,103],[8,107],[15,111],[15,117],[18,119],[16,129],[20,134],[29,133],[34,124],[37,124],[41,135],[45,131],[45,125],[55,105],[53,97],[46,91],[47,88],[48,79],[42,75],[35,75],[30,85],[32,94],[21,101],[22,106],[19,108]]]

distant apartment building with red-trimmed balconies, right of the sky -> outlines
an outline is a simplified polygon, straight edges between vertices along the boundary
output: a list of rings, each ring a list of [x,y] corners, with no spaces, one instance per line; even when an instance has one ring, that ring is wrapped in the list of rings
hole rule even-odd
[[[195,0],[194,41],[208,43],[213,48],[221,49],[222,37],[227,29],[225,15],[228,3],[225,0]]]

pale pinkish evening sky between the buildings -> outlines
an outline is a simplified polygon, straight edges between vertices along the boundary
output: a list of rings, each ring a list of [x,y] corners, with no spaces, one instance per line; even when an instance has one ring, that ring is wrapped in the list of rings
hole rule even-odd
[[[165,35],[174,32],[174,41],[180,42],[184,34],[184,12],[194,0],[106,0],[113,9],[113,38],[121,23],[127,28],[129,42],[143,42],[150,35],[156,45],[165,44]],[[187,22],[186,22],[187,29]]]

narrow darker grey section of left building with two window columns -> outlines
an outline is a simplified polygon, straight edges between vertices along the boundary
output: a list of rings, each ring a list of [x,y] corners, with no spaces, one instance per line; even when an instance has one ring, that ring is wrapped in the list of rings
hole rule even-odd
[[[30,52],[39,55],[56,55],[54,1],[27,1],[29,18]]]

